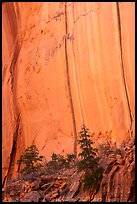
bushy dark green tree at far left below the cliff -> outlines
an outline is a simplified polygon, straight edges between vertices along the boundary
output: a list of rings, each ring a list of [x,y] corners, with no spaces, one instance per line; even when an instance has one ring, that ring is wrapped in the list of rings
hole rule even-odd
[[[36,172],[41,168],[41,161],[43,156],[39,156],[39,151],[35,145],[25,149],[23,155],[20,156],[20,159],[17,161],[17,164],[25,164],[25,167],[20,171],[20,173],[26,175],[31,172]]]

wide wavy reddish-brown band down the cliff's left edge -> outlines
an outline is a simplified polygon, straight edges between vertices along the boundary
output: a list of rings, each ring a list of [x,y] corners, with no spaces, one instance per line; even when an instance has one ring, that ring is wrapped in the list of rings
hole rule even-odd
[[[12,173],[14,171],[14,166],[16,162],[15,158],[17,153],[16,151],[18,150],[17,144],[19,140],[18,130],[19,130],[19,127],[21,126],[21,118],[20,118],[19,108],[16,100],[17,61],[21,50],[21,45],[19,44],[19,41],[18,41],[18,23],[17,23],[17,17],[16,17],[13,3],[5,4],[5,15],[6,15],[7,23],[9,24],[9,30],[7,31],[11,33],[13,45],[15,44],[13,48],[14,50],[12,54],[11,64],[9,66],[9,72],[10,72],[10,83],[11,83],[11,92],[13,97],[13,105],[14,105],[13,108],[14,108],[14,114],[15,114],[14,117],[15,117],[16,127],[13,133],[13,146],[10,153],[10,163],[9,163],[7,174],[3,180],[3,186],[8,181],[8,179],[11,178]]]

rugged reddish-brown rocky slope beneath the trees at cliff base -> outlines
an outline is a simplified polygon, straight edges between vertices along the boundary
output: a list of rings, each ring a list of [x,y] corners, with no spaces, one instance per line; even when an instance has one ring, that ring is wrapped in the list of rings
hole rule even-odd
[[[127,144],[128,147],[128,144]],[[124,151],[124,149],[122,149]],[[8,202],[54,202],[54,201],[95,201],[134,202],[135,201],[135,152],[131,147],[133,161],[125,156],[111,153],[102,155],[100,165],[104,169],[98,192],[83,190],[83,172],[77,173],[76,166],[55,175],[36,176],[35,181],[20,179],[3,189],[3,201]],[[123,162],[124,161],[124,162]],[[71,172],[71,173],[70,173]]]

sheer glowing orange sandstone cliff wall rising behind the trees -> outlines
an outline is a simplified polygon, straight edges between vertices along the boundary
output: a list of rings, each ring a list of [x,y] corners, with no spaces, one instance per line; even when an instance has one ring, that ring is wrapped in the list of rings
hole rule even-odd
[[[3,181],[24,147],[77,152],[134,131],[134,2],[2,3]]]

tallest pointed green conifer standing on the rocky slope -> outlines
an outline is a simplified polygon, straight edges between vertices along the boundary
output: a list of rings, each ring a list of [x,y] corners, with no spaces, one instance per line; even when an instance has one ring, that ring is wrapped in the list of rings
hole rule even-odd
[[[96,188],[100,186],[103,178],[103,169],[99,167],[99,157],[97,157],[97,148],[93,148],[93,142],[90,139],[89,129],[83,124],[79,132],[78,144],[81,148],[78,163],[78,172],[84,171],[84,189]]]

